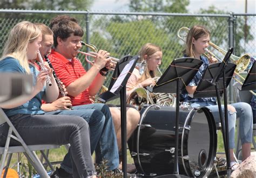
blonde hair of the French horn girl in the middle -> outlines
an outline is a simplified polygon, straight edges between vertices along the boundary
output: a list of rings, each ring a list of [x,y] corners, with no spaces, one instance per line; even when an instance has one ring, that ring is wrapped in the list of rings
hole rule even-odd
[[[144,56],[145,55],[152,55],[158,51],[162,51],[161,47],[160,46],[157,46],[155,44],[152,44],[152,43],[146,43],[145,45],[142,46],[142,48],[139,50],[139,55],[140,55],[140,59],[139,59],[139,62],[145,60],[144,59]],[[156,77],[156,71],[154,70],[149,70],[147,68],[147,65],[145,67],[145,70],[144,70],[144,73],[142,75],[142,77],[140,78],[139,82],[141,81],[144,81],[146,79],[149,79],[149,78],[153,78],[153,77]]]

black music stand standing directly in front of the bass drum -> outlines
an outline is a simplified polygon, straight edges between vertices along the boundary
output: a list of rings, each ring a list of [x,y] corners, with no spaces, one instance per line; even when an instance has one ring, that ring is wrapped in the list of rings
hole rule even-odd
[[[171,65],[165,70],[158,82],[153,88],[147,87],[151,92],[176,93],[176,138],[175,138],[175,153],[174,153],[174,172],[167,177],[187,177],[179,175],[178,168],[178,149],[179,149],[179,100],[180,92],[193,79],[198,69],[203,64],[203,61],[196,58],[179,58],[173,60]],[[163,176],[162,176],[163,177]]]

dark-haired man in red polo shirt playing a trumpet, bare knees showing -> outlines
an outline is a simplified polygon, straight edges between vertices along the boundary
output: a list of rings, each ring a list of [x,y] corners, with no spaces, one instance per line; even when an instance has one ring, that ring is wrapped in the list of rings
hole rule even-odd
[[[52,26],[52,31],[55,48],[49,55],[49,59],[58,78],[66,86],[72,105],[91,104],[90,96],[95,96],[104,83],[107,73],[101,69],[110,65],[110,59],[106,58],[110,53],[100,50],[95,63],[86,72],[82,63],[76,58],[78,50],[82,47],[80,43],[84,34],[82,28],[71,20],[61,20]],[[120,109],[110,108],[110,111],[120,149]],[[127,138],[136,129],[139,118],[140,115],[136,109],[127,108]]]

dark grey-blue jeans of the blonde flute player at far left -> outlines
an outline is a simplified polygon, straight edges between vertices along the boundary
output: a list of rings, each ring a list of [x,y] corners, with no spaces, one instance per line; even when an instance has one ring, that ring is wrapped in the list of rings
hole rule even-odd
[[[22,115],[9,117],[27,145],[70,143],[73,177],[91,176],[95,167],[91,158],[89,125],[79,116]],[[4,146],[8,124],[0,125],[0,146]],[[11,139],[11,146],[21,145]]]

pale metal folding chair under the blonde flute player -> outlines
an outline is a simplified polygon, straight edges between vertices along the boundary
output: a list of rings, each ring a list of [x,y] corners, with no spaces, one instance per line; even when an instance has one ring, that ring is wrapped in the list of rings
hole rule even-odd
[[[2,175],[3,168],[6,161],[7,154],[12,153],[23,153],[31,165],[37,170],[37,173],[41,177],[49,177],[48,173],[46,172],[45,168],[43,167],[41,161],[39,160],[38,156],[36,155],[35,151],[43,151],[44,149],[52,149],[52,148],[59,148],[60,145],[26,145],[23,141],[22,137],[19,135],[18,131],[15,129],[14,125],[11,123],[9,118],[5,115],[2,108],[0,108],[0,125],[3,123],[7,123],[9,125],[9,132],[6,139],[5,147],[0,147],[0,155],[1,158],[1,167],[0,167],[0,175]],[[14,134],[12,134],[14,133]],[[21,143],[21,146],[10,146],[10,139],[15,139]],[[42,152],[41,152],[42,153]],[[51,165],[50,161],[48,160],[47,156],[44,157],[46,162]],[[10,157],[9,157],[10,159]],[[7,162],[10,162],[8,160]],[[50,166],[51,167],[51,166]],[[51,167],[51,169],[53,169]]]

